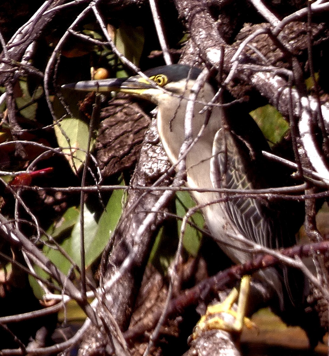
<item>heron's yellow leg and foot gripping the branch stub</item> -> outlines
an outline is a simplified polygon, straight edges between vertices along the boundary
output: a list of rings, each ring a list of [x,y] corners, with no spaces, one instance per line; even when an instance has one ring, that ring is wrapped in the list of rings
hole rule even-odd
[[[250,276],[242,277],[240,293],[238,293],[237,289],[233,288],[222,303],[208,306],[206,314],[201,317],[193,331],[193,339],[196,339],[199,333],[204,330],[221,329],[240,333],[243,325],[246,325],[248,328],[255,326],[250,319],[245,317],[250,279]],[[237,311],[235,311],[232,310],[232,306],[237,299],[238,308]],[[234,321],[224,320],[225,313],[229,314],[231,318],[233,317]]]

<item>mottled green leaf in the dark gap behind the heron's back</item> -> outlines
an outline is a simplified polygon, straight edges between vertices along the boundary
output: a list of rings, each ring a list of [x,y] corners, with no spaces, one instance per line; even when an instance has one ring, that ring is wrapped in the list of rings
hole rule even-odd
[[[276,145],[289,130],[288,122],[283,119],[278,110],[271,105],[265,105],[250,112],[257,122],[270,145]]]

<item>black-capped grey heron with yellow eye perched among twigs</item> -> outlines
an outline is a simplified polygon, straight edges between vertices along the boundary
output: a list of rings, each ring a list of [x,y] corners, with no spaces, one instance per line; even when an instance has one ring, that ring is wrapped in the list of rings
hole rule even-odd
[[[187,102],[200,73],[200,69],[175,64],[145,71],[149,80],[135,75],[78,82],[63,88],[121,91],[156,104],[160,139],[170,161],[176,164],[185,139]],[[262,150],[270,148],[255,121],[236,104],[213,105],[204,110],[213,96],[214,88],[206,81],[194,103],[192,138],[204,127],[186,155],[186,185],[192,189],[227,188],[242,192],[286,185],[288,174],[262,155]],[[252,257],[243,239],[270,248],[296,244],[295,234],[303,223],[303,209],[298,203],[248,198],[243,194],[237,198],[218,192],[192,190],[191,194],[203,206],[202,213],[213,238],[236,263]],[[316,345],[318,318],[315,312],[305,312],[309,282],[304,275],[296,269],[278,266],[254,273],[252,281],[251,295],[267,295],[275,312],[288,323],[302,326],[311,345]],[[245,284],[249,285],[248,279]],[[242,315],[235,320],[235,330],[241,329],[246,308],[240,299],[238,308]]]

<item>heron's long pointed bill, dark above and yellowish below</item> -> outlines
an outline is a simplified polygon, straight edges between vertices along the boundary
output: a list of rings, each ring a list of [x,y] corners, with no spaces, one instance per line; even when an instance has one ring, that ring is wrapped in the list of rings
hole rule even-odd
[[[62,85],[62,89],[98,92],[123,91],[126,93],[134,93],[149,88],[154,88],[154,84],[147,83],[147,81],[139,75],[130,78],[86,80],[84,82]]]

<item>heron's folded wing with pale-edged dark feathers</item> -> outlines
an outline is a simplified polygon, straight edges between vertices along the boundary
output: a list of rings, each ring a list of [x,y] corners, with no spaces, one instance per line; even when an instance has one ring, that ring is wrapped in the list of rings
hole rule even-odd
[[[256,164],[253,152],[241,137],[233,135],[229,130],[221,129],[214,138],[211,161],[214,188],[254,189],[252,178],[257,177],[250,172]],[[240,141],[239,145],[237,141]],[[225,205],[230,219],[246,239],[271,248],[285,245],[282,229],[276,226],[278,211],[272,211],[264,198],[241,197],[240,194],[238,198],[229,197]]]

